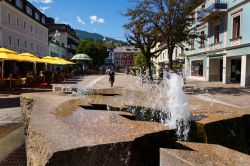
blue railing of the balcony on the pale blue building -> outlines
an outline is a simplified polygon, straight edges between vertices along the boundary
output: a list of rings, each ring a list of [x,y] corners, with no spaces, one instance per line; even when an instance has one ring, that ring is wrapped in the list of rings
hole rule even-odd
[[[213,12],[222,12],[227,9],[227,0],[207,0],[206,8],[198,11],[197,19],[201,21],[206,16],[212,14]]]

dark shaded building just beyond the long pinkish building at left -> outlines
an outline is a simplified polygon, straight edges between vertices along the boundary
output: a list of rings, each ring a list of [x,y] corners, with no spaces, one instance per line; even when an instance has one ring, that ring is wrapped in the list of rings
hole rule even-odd
[[[76,54],[76,48],[80,40],[74,29],[66,24],[55,24],[53,18],[48,18],[46,25],[49,28],[49,41],[55,41],[55,34],[58,31],[60,33],[61,47],[67,48],[65,58],[71,59]]]

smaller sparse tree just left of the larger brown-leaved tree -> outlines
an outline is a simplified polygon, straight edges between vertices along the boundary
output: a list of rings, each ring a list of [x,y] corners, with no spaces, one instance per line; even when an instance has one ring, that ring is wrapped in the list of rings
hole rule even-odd
[[[145,58],[149,70],[149,77],[153,80],[151,69],[151,58],[157,57],[164,50],[163,47],[155,49],[158,43],[158,35],[153,24],[149,24],[140,12],[143,6],[129,9],[125,16],[129,17],[130,23],[125,24],[128,30],[126,38],[129,44],[139,48]]]

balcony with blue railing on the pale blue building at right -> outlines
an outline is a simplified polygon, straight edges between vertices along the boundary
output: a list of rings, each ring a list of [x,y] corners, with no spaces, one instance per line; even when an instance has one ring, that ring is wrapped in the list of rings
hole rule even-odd
[[[205,6],[205,9],[201,9],[197,12],[197,20],[200,22],[205,22],[226,12],[227,0],[207,0]]]

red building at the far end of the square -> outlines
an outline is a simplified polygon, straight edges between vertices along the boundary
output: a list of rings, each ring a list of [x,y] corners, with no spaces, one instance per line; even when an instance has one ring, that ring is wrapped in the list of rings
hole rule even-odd
[[[115,69],[126,72],[129,66],[133,66],[133,58],[138,49],[133,46],[121,46],[114,49]]]

